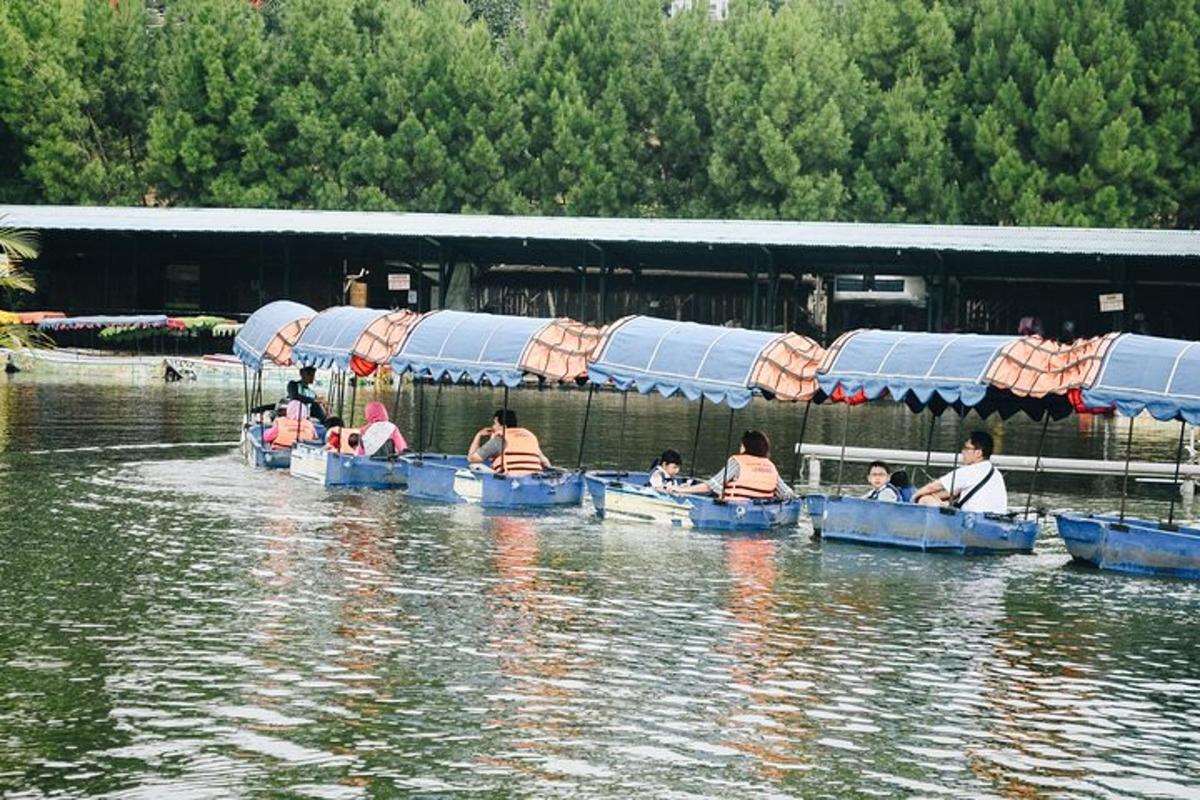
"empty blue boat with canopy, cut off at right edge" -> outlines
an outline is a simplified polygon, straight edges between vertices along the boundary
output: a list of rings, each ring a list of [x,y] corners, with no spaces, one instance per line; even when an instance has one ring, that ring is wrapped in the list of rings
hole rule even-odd
[[[1172,483],[1178,482],[1187,426],[1200,425],[1200,342],[1123,333],[1105,353],[1094,380],[1082,387],[1081,401],[1087,407],[1112,407],[1129,417],[1127,471],[1118,513],[1055,513],[1067,552],[1075,561],[1100,570],[1200,579],[1200,528],[1175,522],[1174,492],[1165,521],[1124,513],[1136,416],[1180,423]]]

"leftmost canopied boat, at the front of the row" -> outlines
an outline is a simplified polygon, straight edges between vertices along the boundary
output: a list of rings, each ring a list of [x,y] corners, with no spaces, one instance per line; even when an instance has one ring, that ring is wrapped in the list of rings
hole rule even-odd
[[[292,465],[290,449],[270,447],[263,440],[275,405],[274,402],[263,403],[263,373],[270,366],[292,366],[292,348],[316,315],[316,311],[302,303],[276,300],[251,314],[234,337],[233,351],[242,365],[245,399],[241,453],[252,467],[286,469]]]

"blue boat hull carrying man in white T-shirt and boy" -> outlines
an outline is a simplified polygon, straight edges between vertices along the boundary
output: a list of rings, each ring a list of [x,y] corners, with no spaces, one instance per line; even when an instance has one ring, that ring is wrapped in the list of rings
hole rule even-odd
[[[946,553],[1032,553],[1037,521],[912,503],[810,494],[812,531],[822,539]]]

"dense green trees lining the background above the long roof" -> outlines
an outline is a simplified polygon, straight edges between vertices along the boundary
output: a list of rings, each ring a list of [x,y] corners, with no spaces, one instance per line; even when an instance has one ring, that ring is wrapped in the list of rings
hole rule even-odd
[[[1200,222],[1200,0],[667,5],[4,4],[0,200]]]

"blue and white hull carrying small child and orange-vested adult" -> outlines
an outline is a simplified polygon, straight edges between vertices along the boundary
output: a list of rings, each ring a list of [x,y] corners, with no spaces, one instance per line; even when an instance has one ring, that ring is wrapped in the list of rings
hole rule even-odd
[[[649,487],[648,473],[584,475],[596,515],[672,528],[764,531],[791,528],[800,518],[800,500],[722,503],[713,497],[671,497]]]

